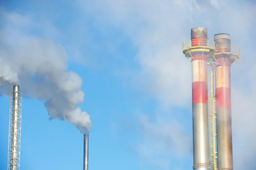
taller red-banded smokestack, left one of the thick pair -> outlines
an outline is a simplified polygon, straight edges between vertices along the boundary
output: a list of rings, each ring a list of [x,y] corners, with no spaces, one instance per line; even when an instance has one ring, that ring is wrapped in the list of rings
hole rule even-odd
[[[199,50],[192,53],[192,108],[193,154],[195,170],[209,170],[209,127],[207,91],[207,54],[200,46],[208,45],[207,28],[191,29],[191,46]]]

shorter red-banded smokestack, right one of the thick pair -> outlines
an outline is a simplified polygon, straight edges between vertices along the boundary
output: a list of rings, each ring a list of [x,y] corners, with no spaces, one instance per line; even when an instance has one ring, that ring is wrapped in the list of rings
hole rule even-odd
[[[230,60],[225,52],[230,52],[230,34],[215,34],[218,65],[215,69],[216,131],[218,170],[233,170]]]

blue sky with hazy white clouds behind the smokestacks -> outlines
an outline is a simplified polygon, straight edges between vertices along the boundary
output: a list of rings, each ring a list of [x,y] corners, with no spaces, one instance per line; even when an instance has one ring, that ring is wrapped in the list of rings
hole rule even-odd
[[[180,48],[192,27],[204,26],[210,39],[229,33],[242,49],[232,66],[234,165],[253,170],[253,1],[3,0],[0,10],[0,57],[23,63],[17,73],[24,96],[21,169],[73,170],[83,164],[80,131],[67,121],[49,121],[49,95],[43,94],[56,87],[40,76],[45,89],[25,86],[40,62],[49,62],[44,73],[66,69],[82,79],[79,107],[92,121],[90,170],[192,169],[191,63]],[[12,84],[0,88],[2,94],[10,91]],[[0,169],[6,169],[8,96],[0,103]]]

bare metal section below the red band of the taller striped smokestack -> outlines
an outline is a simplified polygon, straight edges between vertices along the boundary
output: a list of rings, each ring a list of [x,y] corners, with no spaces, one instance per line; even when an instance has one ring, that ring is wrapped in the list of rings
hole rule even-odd
[[[209,165],[208,104],[196,103],[192,108],[194,164]]]

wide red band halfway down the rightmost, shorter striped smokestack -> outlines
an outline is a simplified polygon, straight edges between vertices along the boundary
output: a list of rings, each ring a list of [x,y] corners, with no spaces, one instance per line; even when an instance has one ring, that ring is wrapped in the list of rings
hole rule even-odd
[[[230,88],[216,88],[216,109],[231,108],[231,90]]]

